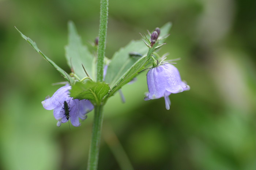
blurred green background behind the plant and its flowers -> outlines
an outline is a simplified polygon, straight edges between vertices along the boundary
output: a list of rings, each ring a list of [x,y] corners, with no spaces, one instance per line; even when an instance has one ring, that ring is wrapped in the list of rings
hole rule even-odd
[[[41,101],[63,81],[19,35],[69,72],[67,22],[84,44],[99,28],[99,0],[0,0],[0,169],[86,169],[93,112],[57,127]],[[139,32],[173,23],[168,59],[191,90],[144,101],[146,71],[104,110],[99,169],[256,169],[256,1],[110,0],[106,56]],[[117,140],[117,138],[118,140]],[[119,141],[119,142],[118,142]],[[118,159],[116,159],[116,157]],[[119,160],[119,162],[117,161]]]

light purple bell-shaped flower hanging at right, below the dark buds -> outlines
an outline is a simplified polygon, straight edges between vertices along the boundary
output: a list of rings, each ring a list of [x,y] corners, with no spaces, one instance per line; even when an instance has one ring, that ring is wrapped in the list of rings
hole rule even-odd
[[[165,98],[165,107],[170,109],[169,95],[189,90],[190,87],[181,81],[180,73],[172,64],[153,67],[147,73],[148,96],[144,100]]]

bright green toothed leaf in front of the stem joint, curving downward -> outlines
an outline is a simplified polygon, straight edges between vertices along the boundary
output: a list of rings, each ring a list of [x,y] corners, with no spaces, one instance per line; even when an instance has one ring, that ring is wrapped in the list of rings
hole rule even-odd
[[[109,90],[109,85],[104,82],[76,82],[70,90],[70,96],[74,99],[88,99],[92,103],[100,105],[103,97],[108,94]]]

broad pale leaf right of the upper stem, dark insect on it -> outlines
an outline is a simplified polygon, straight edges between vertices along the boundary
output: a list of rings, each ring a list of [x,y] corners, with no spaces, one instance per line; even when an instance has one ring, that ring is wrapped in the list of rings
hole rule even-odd
[[[166,23],[161,27],[161,36],[165,36],[170,28],[171,23]],[[149,35],[148,35],[148,38]],[[163,43],[164,40],[159,40],[159,43]],[[131,69],[133,64],[135,64],[141,57],[130,56],[129,53],[136,52],[142,56],[147,55],[148,47],[144,44],[142,40],[131,41],[127,46],[121,48],[117,51],[108,66],[106,73],[105,81],[110,84],[110,87],[113,88],[118,80],[125,76],[125,73]]]

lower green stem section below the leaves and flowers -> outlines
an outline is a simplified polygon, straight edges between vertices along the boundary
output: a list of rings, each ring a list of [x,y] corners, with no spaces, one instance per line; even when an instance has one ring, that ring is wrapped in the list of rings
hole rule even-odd
[[[87,170],[96,170],[98,166],[99,144],[101,141],[101,129],[103,122],[102,109],[103,105],[94,107],[93,130]]]

